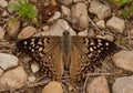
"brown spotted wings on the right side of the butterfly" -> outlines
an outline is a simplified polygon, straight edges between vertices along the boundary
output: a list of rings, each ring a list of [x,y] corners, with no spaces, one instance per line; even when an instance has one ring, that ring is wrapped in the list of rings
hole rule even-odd
[[[115,43],[104,39],[73,37],[70,64],[71,79],[80,81],[86,73],[93,72],[93,65],[100,65],[99,60],[111,54],[115,48]]]

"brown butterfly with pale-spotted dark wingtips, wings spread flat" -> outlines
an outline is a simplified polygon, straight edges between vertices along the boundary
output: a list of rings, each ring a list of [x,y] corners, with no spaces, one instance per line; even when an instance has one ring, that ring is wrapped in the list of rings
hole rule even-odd
[[[71,80],[76,82],[93,71],[100,59],[111,54],[116,44],[100,38],[71,37],[69,31],[64,31],[62,37],[19,40],[17,48],[35,60],[52,80],[61,80],[66,69]]]

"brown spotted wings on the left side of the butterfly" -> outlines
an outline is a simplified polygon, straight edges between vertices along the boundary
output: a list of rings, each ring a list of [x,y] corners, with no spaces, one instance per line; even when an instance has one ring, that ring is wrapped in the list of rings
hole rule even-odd
[[[39,62],[41,71],[60,80],[63,74],[62,52],[59,37],[30,38],[20,40],[17,48]]]

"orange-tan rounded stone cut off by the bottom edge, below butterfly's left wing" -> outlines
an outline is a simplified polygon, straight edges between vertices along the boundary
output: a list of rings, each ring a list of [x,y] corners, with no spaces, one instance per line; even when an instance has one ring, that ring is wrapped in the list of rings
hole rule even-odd
[[[44,86],[42,93],[63,93],[63,89],[59,82],[51,81]]]

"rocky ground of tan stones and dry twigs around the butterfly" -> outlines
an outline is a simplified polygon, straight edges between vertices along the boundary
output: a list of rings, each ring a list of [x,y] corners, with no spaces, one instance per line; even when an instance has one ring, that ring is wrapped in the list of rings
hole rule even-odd
[[[8,6],[16,0],[0,0],[0,93],[133,93],[133,18],[108,0],[31,0],[38,22],[17,19]],[[51,81],[39,75],[40,66],[17,51],[19,39],[42,35],[103,38],[122,50],[108,56],[101,72],[89,73],[75,84]],[[115,50],[115,49],[114,49]]]

